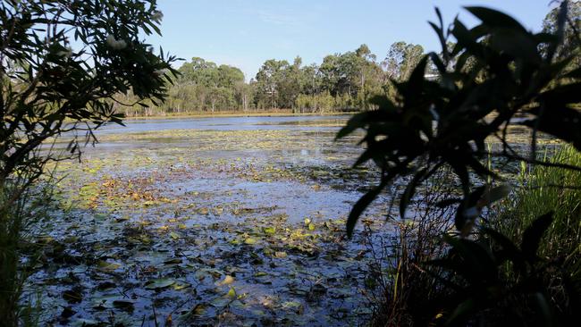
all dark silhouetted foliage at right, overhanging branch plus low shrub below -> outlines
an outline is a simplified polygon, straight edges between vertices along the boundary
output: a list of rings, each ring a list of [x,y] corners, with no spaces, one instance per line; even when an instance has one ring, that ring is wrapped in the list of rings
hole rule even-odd
[[[433,313],[445,324],[550,325],[558,322],[557,311],[563,322],[576,314],[577,301],[559,302],[548,296],[551,282],[560,281],[556,287],[565,289],[569,299],[577,298],[568,275],[555,262],[538,256],[537,249],[545,247],[541,241],[553,222],[552,213],[543,212],[522,224],[526,229],[520,242],[477,222],[484,207],[509,193],[508,187],[490,183],[490,178],[502,179],[482,163],[486,157],[581,171],[574,164],[540,161],[536,151],[540,132],[581,150],[581,113],[576,109],[581,70],[572,65],[579,43],[568,44],[576,51],[557,55],[563,48],[567,9],[568,2],[560,4],[552,33],[527,31],[509,15],[483,7],[467,7],[481,21],[475,28],[467,29],[458,19],[445,28],[436,10],[439,25],[431,25],[442,54],[424,56],[407,80],[393,80],[396,99],[376,96],[373,102],[379,109],[356,114],[337,135],[343,138],[365,130],[361,143],[366,150],[355,165],[373,161],[381,170],[379,185],[361,197],[349,214],[349,236],[366,207],[384,189],[391,189],[394,180],[410,176],[399,195],[403,219],[419,187],[445,170],[453,172],[462,196],[437,206],[455,205],[457,231],[443,238],[450,247],[448,254],[430,261],[444,271],[434,274],[435,289],[450,291]],[[457,41],[451,48],[450,37]],[[428,60],[436,67],[438,80],[425,76]],[[531,134],[529,155],[521,155],[509,143],[508,130],[515,125],[525,126]],[[488,138],[498,140],[501,151],[485,147]],[[573,216],[566,228],[577,226],[578,215]],[[570,250],[568,255],[577,248]],[[558,304],[564,307],[556,310]]]

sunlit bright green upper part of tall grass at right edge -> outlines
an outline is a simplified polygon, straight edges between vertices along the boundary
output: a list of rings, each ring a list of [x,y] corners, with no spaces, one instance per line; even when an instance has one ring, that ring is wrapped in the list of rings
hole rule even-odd
[[[545,154],[546,162],[581,166],[581,153],[564,146]],[[504,235],[521,239],[526,227],[541,214],[553,211],[553,222],[545,232],[538,254],[561,258],[563,264],[578,262],[581,255],[581,172],[556,167],[522,166],[520,188],[505,200],[496,222]]]

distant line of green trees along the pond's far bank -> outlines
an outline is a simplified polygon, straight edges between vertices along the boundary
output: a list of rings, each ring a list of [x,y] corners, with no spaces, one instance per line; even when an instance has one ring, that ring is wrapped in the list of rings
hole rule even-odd
[[[292,110],[293,113],[360,111],[377,95],[392,95],[391,80],[405,80],[425,55],[422,46],[396,42],[383,60],[366,45],[327,55],[323,63],[270,59],[245,81],[238,67],[193,57],[178,69],[164,103],[131,105],[133,96],[117,97],[127,116]]]

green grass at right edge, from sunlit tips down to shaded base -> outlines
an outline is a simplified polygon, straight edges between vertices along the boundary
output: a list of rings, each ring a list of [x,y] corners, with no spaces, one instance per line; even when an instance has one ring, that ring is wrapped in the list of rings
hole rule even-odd
[[[553,164],[581,166],[581,153],[574,147],[548,149],[544,161]],[[536,217],[549,212],[553,221],[538,248],[538,256],[546,260],[548,269],[543,281],[551,293],[552,305],[558,314],[579,316],[581,307],[581,172],[521,164],[519,188],[503,200],[491,213],[493,228],[516,244],[523,239],[526,227]],[[506,278],[514,279],[507,267]],[[577,308],[577,309],[576,309]]]

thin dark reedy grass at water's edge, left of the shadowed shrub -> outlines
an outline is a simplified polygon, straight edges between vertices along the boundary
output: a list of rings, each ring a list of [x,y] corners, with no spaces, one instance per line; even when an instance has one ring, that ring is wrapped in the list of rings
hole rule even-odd
[[[453,212],[438,207],[453,182],[434,177],[418,191],[405,219],[393,218],[394,231],[379,243],[368,242],[373,257],[368,282],[374,308],[372,326],[426,326],[442,318],[442,268],[426,264],[445,253],[442,234],[450,231]]]

